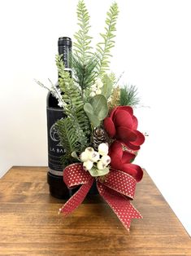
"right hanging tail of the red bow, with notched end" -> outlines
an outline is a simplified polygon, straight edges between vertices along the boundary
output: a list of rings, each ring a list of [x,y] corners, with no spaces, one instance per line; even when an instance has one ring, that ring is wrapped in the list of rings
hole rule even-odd
[[[103,199],[110,205],[111,209],[115,212],[124,227],[128,229],[131,224],[132,218],[142,218],[141,214],[131,204],[128,197],[125,197],[119,192],[104,186],[102,183],[97,183],[98,192]]]

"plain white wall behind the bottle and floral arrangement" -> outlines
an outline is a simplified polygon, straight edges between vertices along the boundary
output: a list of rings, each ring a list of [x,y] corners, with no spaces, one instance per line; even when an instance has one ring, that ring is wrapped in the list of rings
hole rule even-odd
[[[92,35],[99,41],[108,1],[86,0]],[[139,130],[147,132],[137,157],[191,234],[190,68],[191,2],[119,3],[111,69],[138,86]],[[46,90],[57,79],[60,36],[76,32],[76,0],[0,2],[0,176],[11,166],[46,166]],[[146,107],[148,106],[148,107]]]

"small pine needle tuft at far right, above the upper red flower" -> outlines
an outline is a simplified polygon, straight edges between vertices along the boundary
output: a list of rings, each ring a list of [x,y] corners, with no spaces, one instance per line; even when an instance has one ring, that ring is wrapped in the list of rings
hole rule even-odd
[[[132,107],[137,107],[140,103],[138,97],[137,87],[136,86],[124,86],[120,89],[120,99],[119,104],[121,106],[129,105]]]

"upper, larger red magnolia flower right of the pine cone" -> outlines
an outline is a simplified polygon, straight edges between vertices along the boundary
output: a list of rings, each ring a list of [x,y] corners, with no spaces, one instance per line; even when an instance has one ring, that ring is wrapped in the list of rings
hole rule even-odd
[[[118,106],[104,119],[104,127],[111,138],[118,139],[128,148],[139,150],[145,136],[137,130],[137,117],[130,106]]]

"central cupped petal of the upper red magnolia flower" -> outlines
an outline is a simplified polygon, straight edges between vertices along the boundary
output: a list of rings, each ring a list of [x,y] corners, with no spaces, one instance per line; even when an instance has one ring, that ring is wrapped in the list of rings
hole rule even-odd
[[[120,110],[117,113],[115,113],[115,117],[114,117],[114,123],[115,123],[115,127],[116,126],[125,126],[129,129],[132,129],[132,117],[131,115],[124,110]]]

